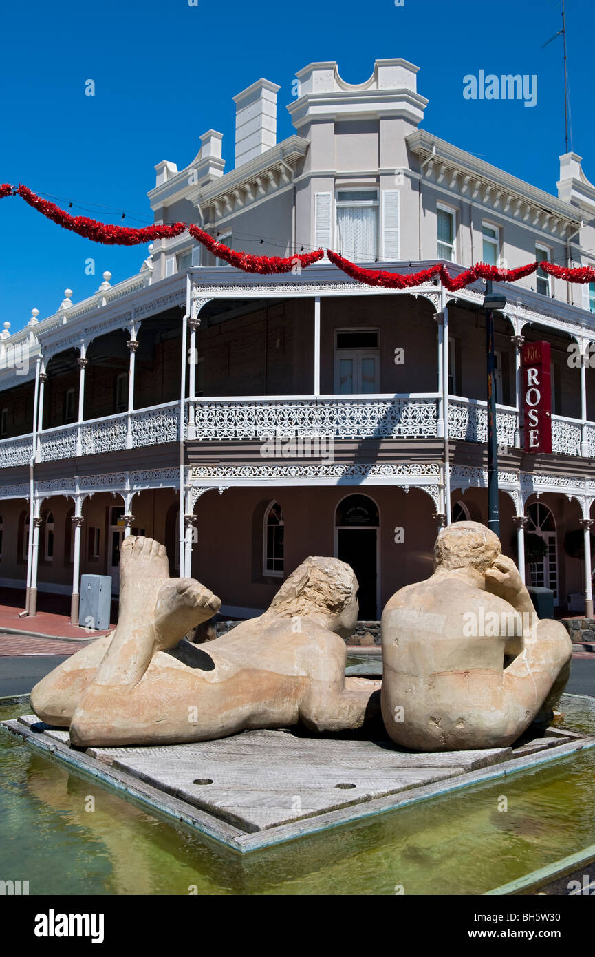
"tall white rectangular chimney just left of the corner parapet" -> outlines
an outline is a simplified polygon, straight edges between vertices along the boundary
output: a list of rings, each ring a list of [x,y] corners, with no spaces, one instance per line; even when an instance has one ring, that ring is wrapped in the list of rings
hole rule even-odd
[[[280,86],[257,79],[233,97],[235,103],[235,167],[260,156],[276,143],[276,94]]]

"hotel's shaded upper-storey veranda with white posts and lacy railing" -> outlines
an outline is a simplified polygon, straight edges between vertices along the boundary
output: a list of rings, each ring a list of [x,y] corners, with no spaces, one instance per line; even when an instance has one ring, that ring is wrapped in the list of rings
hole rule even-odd
[[[370,290],[338,279],[336,270],[324,265],[300,277],[247,277],[230,268],[193,270],[191,278],[202,308],[198,327],[188,332],[197,363],[193,373],[187,367],[183,437],[189,443],[444,435],[436,286],[408,293]],[[0,467],[26,466],[32,456],[40,463],[68,461],[179,440],[185,286],[185,276],[151,288],[131,284],[102,305],[69,308],[61,323],[44,324],[39,343],[47,381],[34,448],[30,377],[13,387],[20,389],[15,407],[25,410],[19,422],[29,420],[29,428],[15,424],[12,434],[0,439]],[[595,457],[595,372],[589,367],[582,376],[567,363],[571,341],[595,342],[593,317],[535,293],[517,292],[513,298],[511,287],[506,291],[511,305],[496,321],[498,444],[520,447],[513,333],[522,333],[552,342],[553,452]],[[480,295],[478,285],[447,300],[448,434],[475,443],[486,440]],[[363,349],[354,343],[345,348],[338,339],[370,330],[375,343]],[[33,331],[17,336],[31,337]],[[397,349],[406,356],[402,365],[396,364]],[[348,381],[345,359],[355,364]],[[356,390],[366,375],[367,390]]]

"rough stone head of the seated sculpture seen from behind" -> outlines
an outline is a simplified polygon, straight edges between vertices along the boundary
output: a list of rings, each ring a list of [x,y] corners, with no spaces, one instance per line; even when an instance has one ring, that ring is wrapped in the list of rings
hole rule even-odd
[[[443,528],[434,545],[436,571],[471,571],[485,575],[502,547],[497,535],[479,522],[453,522]]]

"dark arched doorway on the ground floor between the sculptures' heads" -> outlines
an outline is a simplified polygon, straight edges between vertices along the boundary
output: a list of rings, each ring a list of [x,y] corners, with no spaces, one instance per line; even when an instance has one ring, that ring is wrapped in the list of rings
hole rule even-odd
[[[355,571],[360,618],[378,618],[378,506],[366,495],[348,495],[335,512],[335,555]]]

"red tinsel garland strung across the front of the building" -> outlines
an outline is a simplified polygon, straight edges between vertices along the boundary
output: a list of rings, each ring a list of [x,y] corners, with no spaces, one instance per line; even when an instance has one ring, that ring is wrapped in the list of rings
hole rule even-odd
[[[106,246],[136,246],[140,243],[151,242],[154,239],[171,239],[179,236],[187,229],[188,233],[202,243],[213,256],[225,259],[231,266],[241,269],[244,273],[260,273],[262,275],[272,273],[289,273],[296,268],[305,268],[313,262],[318,262],[324,251],[315,250],[313,253],[300,253],[298,256],[253,256],[250,253],[241,253],[237,250],[218,243],[208,233],[205,233],[199,226],[186,223],[173,223],[172,225],[153,225],[144,226],[142,229],[133,229],[127,226],[109,226],[100,223],[97,219],[89,219],[87,216],[71,216],[70,213],[60,210],[54,203],[49,203],[45,199],[37,196],[31,189],[22,184],[18,189],[13,189],[10,183],[0,184],[0,199],[16,193],[25,200],[34,210],[41,212],[48,219],[53,220],[63,229],[72,230],[85,239],[91,239],[93,242],[103,243]],[[440,278],[443,286],[450,292],[456,292],[465,286],[475,282],[476,279],[493,279],[495,282],[516,282],[518,279],[530,276],[536,269],[541,269],[550,276],[558,279],[565,279],[567,282],[595,282],[595,267],[578,266],[574,269],[566,266],[556,266],[552,262],[529,262],[526,266],[519,266],[518,269],[498,269],[496,266],[489,266],[485,262],[475,263],[471,269],[466,269],[458,276],[451,276],[446,266],[437,262],[427,269],[422,269],[418,273],[387,273],[381,269],[365,269],[364,266],[358,266],[349,259],[344,259],[332,250],[326,251],[328,258],[347,276],[356,279],[358,282],[364,282],[369,286],[381,286],[385,289],[410,289],[414,286],[429,282],[435,277]]]

